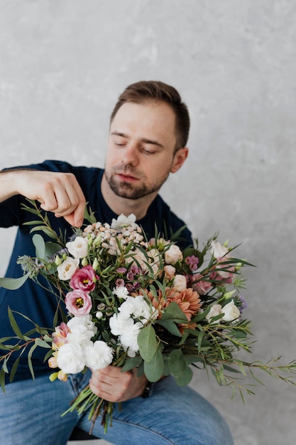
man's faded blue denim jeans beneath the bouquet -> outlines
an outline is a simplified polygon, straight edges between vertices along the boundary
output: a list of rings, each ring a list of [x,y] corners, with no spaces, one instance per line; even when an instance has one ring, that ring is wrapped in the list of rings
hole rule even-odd
[[[0,444],[65,445],[75,425],[89,432],[87,414],[60,417],[88,381],[89,372],[67,382],[40,376],[6,385],[6,395],[0,393]],[[136,397],[122,403],[120,412],[115,409],[106,434],[98,418],[92,434],[116,445],[233,445],[219,412],[171,376],[154,385],[150,397]]]

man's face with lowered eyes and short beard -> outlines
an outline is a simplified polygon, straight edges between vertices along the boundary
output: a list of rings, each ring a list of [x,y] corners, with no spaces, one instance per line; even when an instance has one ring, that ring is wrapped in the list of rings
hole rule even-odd
[[[165,102],[119,108],[111,122],[105,174],[111,190],[138,199],[157,192],[173,171],[175,114]]]

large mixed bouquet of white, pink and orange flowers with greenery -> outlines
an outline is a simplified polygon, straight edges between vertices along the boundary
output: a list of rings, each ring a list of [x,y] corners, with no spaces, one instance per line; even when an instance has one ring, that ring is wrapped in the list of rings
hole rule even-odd
[[[237,356],[239,350],[251,353],[251,323],[243,318],[246,301],[240,294],[245,284],[242,268],[251,264],[236,258],[228,242],[221,245],[217,234],[202,248],[195,240],[194,247],[181,251],[157,233],[147,240],[134,215],[120,215],[109,225],[94,221],[87,212],[90,224],[84,230],[73,229],[71,240],[62,240],[47,215],[33,206],[26,206],[39,218],[33,230],[37,226],[52,240],[45,242],[35,234],[36,257],[18,259],[24,276],[14,282],[0,279],[0,285],[16,289],[25,279],[39,282],[41,275],[67,312],[55,331],[35,325],[38,335],[31,338],[20,332],[9,310],[20,343],[0,341],[5,352],[0,372],[3,390],[7,360],[28,344],[32,350],[49,349],[48,365],[54,369],[50,380],[67,380],[67,375],[85,368],[114,365],[123,370],[138,368],[138,375],[144,373],[150,382],[172,374],[179,385],[187,385],[193,366],[212,370],[219,385],[231,385],[233,395],[238,388],[241,397],[244,391],[254,392],[241,385],[236,375],[249,375],[261,383],[253,369],[295,385],[282,374],[295,374],[296,361],[275,366],[278,358],[263,364]],[[33,375],[30,352],[28,361]],[[101,414],[106,431],[114,404],[87,387],[70,406],[73,409],[89,410],[92,422]]]

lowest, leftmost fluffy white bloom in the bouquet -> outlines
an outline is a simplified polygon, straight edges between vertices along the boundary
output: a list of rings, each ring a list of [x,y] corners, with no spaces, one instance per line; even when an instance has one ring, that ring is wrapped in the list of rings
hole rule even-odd
[[[84,370],[84,352],[80,345],[65,343],[57,354],[57,365],[65,374],[77,374]]]

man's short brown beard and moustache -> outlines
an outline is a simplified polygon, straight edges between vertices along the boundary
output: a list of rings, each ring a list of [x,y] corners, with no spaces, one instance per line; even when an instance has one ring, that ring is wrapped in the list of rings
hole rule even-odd
[[[131,176],[135,176],[136,178],[141,178],[143,183],[141,186],[135,186],[133,183],[124,182],[124,181],[116,181],[115,176],[118,173],[131,174]],[[121,198],[128,198],[132,200],[136,200],[139,198],[143,198],[144,196],[150,195],[151,193],[158,192],[160,187],[163,186],[163,183],[167,180],[170,171],[165,173],[163,178],[161,178],[157,183],[147,186],[145,183],[146,176],[143,173],[136,171],[133,166],[125,166],[124,168],[116,168],[114,167],[112,172],[109,174],[105,169],[106,181],[111,188],[111,191],[115,193],[115,195],[120,196]]]

